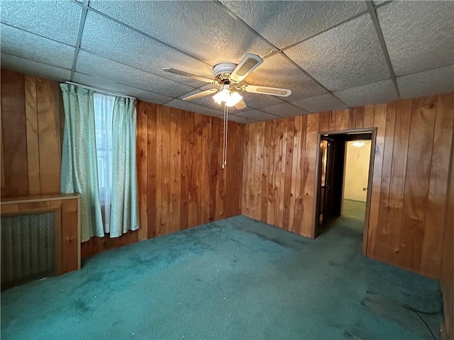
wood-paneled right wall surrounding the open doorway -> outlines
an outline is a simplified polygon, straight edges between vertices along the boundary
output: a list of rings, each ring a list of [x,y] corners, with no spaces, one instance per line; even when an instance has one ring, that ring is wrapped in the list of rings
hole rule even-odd
[[[246,125],[241,211],[314,237],[318,132],[373,127],[367,256],[439,278],[453,94]]]

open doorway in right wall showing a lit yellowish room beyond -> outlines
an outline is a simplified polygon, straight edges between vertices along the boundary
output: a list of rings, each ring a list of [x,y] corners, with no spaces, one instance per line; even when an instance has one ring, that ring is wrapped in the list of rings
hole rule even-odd
[[[376,129],[319,132],[314,235],[343,216],[355,219],[367,246]],[[358,223],[360,222],[360,223]]]

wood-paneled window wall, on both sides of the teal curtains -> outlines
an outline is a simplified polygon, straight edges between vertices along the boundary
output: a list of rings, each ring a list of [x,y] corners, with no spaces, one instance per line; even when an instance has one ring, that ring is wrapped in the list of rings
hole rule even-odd
[[[92,237],[82,257],[240,214],[244,125],[138,101],[140,229]],[[64,110],[57,82],[1,70],[1,196],[60,192]]]

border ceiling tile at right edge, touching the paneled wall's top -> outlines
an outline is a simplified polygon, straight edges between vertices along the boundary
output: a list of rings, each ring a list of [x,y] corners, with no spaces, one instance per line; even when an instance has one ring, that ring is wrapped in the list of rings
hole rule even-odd
[[[397,77],[402,98],[415,98],[454,91],[454,65]]]

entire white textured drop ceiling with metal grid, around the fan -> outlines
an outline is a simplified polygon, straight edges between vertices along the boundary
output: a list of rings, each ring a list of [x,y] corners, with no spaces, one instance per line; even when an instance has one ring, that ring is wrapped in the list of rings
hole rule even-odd
[[[1,67],[221,117],[219,62],[265,61],[240,123],[454,90],[453,1],[1,1]]]

